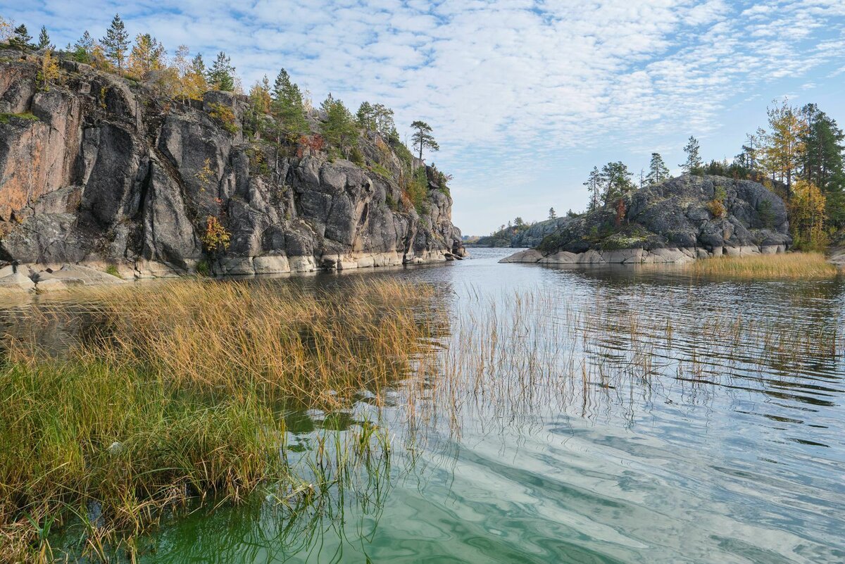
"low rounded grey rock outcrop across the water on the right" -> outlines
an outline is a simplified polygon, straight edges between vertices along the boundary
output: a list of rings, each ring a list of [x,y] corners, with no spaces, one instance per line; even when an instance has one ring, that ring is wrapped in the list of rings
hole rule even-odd
[[[506,263],[677,263],[783,252],[792,243],[781,198],[757,182],[679,176],[564,221]]]

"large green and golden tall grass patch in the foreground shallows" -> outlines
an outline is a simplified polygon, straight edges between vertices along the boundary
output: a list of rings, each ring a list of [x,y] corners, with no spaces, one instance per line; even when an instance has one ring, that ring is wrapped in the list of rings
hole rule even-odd
[[[96,554],[188,496],[237,502],[263,480],[293,483],[281,410],[341,409],[406,377],[429,295],[191,280],[87,294],[73,312],[34,306],[0,365],[0,560],[49,561],[43,523],[89,518],[92,504]],[[88,334],[60,358],[43,350],[41,329],[79,312]],[[349,471],[315,469],[324,485]]]

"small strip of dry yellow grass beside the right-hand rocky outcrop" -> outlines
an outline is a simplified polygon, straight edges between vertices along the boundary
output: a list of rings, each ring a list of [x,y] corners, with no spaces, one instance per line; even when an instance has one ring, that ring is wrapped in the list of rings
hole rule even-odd
[[[838,273],[838,268],[819,252],[711,258],[690,263],[686,269],[700,276],[740,279],[821,279]]]

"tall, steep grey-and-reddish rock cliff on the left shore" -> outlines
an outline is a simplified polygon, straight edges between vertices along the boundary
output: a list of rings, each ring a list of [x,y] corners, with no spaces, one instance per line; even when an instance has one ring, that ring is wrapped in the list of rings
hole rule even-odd
[[[63,86],[42,92],[37,62],[0,60],[0,267],[270,274],[464,252],[434,171],[415,209],[399,181],[423,163],[374,133],[360,139],[362,165],[307,144],[277,151],[244,135],[243,96],[183,104],[70,61]],[[225,251],[208,248],[209,218],[230,236]]]

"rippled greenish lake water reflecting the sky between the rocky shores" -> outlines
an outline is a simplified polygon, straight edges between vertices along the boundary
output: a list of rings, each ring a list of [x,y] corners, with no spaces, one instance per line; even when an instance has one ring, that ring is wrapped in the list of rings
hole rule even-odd
[[[450,312],[444,342],[482,346],[494,317],[510,360],[485,368],[481,393],[466,374],[451,391],[411,378],[384,409],[358,404],[345,419],[378,420],[390,457],[324,507],[293,517],[268,486],[166,518],[140,561],[845,561],[841,279],[497,263],[509,253],[281,279],[427,282]],[[525,292],[535,299],[515,306]],[[430,377],[466,362],[446,357]],[[325,417],[292,415],[293,442]]]

